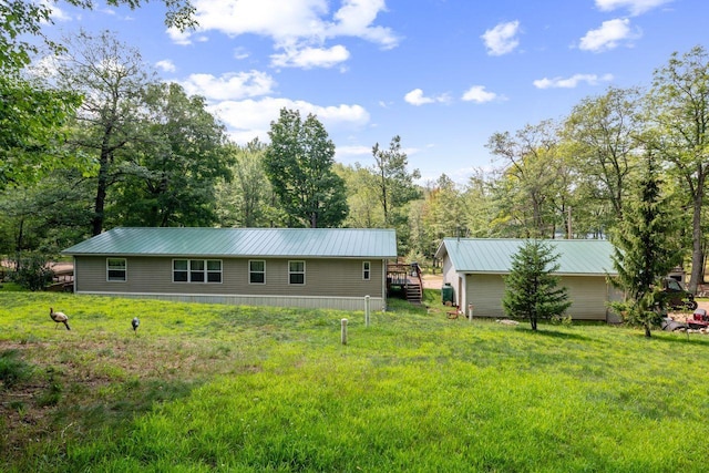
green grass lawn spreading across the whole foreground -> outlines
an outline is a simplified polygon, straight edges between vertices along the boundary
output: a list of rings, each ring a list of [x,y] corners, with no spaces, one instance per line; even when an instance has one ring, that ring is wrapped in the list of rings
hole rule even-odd
[[[393,309],[1,294],[0,471],[707,471],[709,338]]]

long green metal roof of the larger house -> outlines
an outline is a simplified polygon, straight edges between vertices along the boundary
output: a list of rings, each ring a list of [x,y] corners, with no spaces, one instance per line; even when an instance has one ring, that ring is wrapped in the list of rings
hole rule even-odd
[[[65,255],[395,258],[393,229],[114,228]]]

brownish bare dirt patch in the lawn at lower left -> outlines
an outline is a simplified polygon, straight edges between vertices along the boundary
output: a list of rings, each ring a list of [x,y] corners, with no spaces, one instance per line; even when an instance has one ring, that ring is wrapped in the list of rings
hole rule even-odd
[[[234,367],[228,352],[215,353],[206,342],[172,343],[140,337],[0,341],[0,352],[17,350],[32,366],[25,382],[0,384],[0,456],[27,456],[28,445],[43,442],[63,449],[93,426],[124,424]]]

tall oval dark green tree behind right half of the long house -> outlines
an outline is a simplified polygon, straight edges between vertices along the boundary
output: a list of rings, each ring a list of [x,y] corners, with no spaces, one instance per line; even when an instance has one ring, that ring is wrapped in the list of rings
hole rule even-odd
[[[337,227],[347,217],[345,183],[332,169],[335,144],[318,121],[282,109],[271,122],[264,164],[291,225]]]

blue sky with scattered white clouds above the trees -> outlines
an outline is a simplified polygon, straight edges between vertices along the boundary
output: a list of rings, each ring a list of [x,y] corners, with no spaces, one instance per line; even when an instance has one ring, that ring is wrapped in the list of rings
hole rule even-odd
[[[338,162],[373,164],[401,136],[422,181],[496,166],[495,132],[563,119],[613,85],[650,85],[675,51],[709,48],[707,0],[194,0],[196,31],[164,7],[59,3],[59,33],[110,29],[164,80],[205,96],[232,138],[268,141],[281,107],[314,113]],[[50,34],[53,34],[51,32]]]

